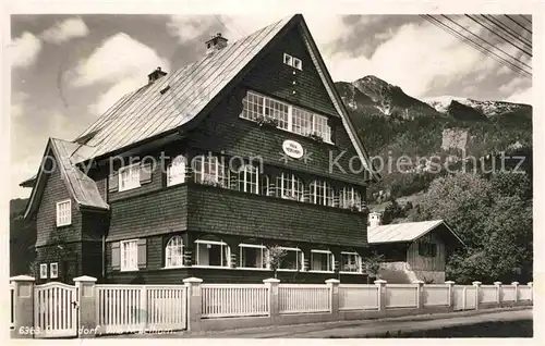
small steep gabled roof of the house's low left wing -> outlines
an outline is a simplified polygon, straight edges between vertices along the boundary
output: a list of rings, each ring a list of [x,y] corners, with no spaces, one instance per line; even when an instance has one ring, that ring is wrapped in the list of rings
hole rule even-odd
[[[41,159],[40,170],[25,210],[25,218],[33,214],[38,208],[36,201],[40,199],[49,175],[45,173],[43,168],[47,166],[46,162],[51,155],[56,159],[53,170],[59,170],[61,180],[64,182],[70,197],[75,201],[77,208],[109,209],[109,206],[100,197],[96,183],[82,172],[71,159],[72,153],[80,149],[80,147],[81,145],[78,144],[49,138],[44,158]]]

